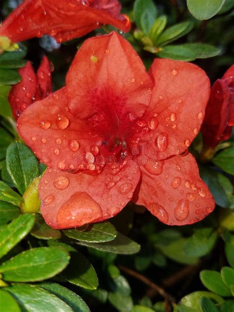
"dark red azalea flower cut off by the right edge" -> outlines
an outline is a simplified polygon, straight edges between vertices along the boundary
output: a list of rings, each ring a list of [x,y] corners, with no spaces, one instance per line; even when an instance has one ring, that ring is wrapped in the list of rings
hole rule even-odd
[[[216,147],[228,140],[234,126],[234,65],[211,88],[201,127],[206,146]]]

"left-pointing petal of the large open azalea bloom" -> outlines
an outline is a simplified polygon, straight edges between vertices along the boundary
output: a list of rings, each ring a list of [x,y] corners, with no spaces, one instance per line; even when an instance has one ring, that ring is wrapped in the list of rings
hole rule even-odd
[[[18,131],[36,156],[51,168],[74,172],[100,170],[103,166],[93,143],[101,138],[69,112],[66,88],[31,105],[18,119]]]

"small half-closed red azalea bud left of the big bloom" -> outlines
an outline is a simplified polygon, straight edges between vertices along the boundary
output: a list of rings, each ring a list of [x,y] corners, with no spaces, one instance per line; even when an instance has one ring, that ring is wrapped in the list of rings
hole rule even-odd
[[[16,120],[29,105],[46,98],[52,89],[51,67],[46,56],[42,58],[37,75],[29,61],[19,74],[21,81],[12,87],[8,96]]]

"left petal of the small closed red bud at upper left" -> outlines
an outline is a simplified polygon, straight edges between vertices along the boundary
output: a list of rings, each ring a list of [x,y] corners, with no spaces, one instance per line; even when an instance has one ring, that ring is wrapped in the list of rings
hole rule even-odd
[[[13,85],[8,97],[15,119],[33,103],[38,93],[37,77],[29,61],[19,70],[19,74],[21,81]]]

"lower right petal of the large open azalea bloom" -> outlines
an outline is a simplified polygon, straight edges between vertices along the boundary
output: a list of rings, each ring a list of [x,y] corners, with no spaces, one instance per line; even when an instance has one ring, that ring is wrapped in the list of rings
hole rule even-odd
[[[200,179],[195,158],[172,156],[140,166],[142,180],[133,201],[168,225],[192,224],[213,211],[215,202]]]

